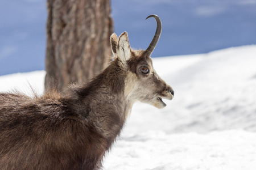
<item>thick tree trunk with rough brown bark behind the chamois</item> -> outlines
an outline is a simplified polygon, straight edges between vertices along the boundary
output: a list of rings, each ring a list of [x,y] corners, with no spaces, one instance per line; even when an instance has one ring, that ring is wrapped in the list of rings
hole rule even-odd
[[[88,82],[110,61],[110,0],[47,0],[47,10],[46,89]]]

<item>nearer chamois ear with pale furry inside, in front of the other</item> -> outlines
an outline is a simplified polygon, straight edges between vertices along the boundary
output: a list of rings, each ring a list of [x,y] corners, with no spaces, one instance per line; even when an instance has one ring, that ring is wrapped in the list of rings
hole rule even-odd
[[[118,45],[117,45],[118,57],[123,63],[126,63],[131,57],[131,48],[128,40],[127,32],[123,32],[119,36]]]

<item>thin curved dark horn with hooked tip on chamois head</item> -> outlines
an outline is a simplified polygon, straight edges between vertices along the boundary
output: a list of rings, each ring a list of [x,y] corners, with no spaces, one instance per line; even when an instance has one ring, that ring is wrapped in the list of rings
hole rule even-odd
[[[148,16],[146,19],[152,18],[152,17],[155,18],[157,26],[156,26],[155,36],[154,36],[153,40],[151,41],[150,45],[148,46],[148,48],[146,49],[146,53],[148,56],[150,56],[152,54],[152,52],[154,51],[155,46],[156,46],[156,44],[158,44],[158,40],[159,40],[161,32],[162,32],[162,22],[161,22],[159,16],[154,14],[154,15]]]

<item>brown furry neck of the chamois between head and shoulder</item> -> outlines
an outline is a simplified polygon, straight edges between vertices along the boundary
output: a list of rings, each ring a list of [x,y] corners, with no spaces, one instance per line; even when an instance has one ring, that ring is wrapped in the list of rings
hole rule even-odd
[[[75,87],[81,115],[112,143],[120,133],[131,103],[125,98],[126,70],[113,61],[85,86]]]

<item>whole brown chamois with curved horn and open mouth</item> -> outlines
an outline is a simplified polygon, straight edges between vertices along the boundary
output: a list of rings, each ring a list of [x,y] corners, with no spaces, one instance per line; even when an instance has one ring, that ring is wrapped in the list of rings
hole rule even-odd
[[[114,61],[69,95],[0,93],[1,169],[102,168],[102,158],[119,135],[135,101],[164,108],[172,88],[156,74],[153,52],[162,23],[146,50],[130,48],[127,32],[110,37]]]

